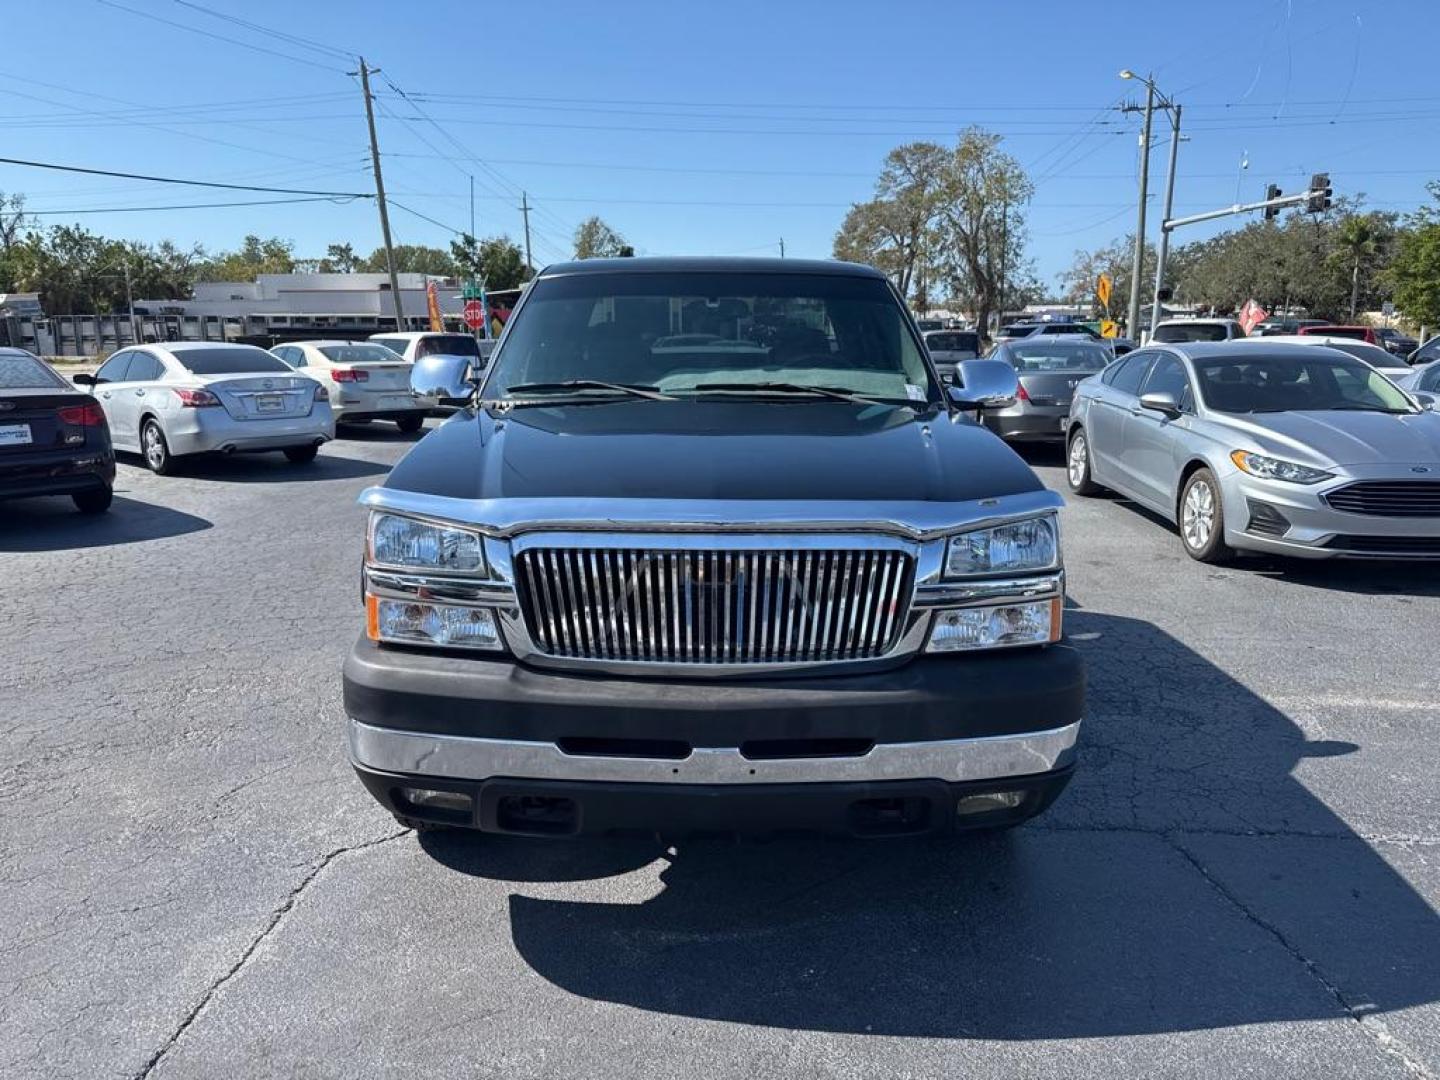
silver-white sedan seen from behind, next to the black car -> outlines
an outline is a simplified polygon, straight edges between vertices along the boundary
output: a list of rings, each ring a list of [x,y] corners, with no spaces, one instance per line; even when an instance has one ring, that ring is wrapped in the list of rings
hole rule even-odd
[[[325,387],[255,346],[135,346],[75,382],[95,387],[115,449],[141,454],[160,474],[192,454],[282,451],[314,461],[336,436]]]

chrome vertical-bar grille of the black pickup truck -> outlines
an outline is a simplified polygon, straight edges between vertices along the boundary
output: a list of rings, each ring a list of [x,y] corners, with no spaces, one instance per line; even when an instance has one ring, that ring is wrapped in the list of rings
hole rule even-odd
[[[516,557],[541,652],[665,664],[884,655],[913,576],[896,550],[539,547]]]

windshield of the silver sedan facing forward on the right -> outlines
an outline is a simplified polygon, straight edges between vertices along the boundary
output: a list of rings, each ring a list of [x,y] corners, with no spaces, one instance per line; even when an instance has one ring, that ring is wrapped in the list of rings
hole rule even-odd
[[[1329,350],[1315,353],[1195,360],[1201,397],[1217,412],[1416,412],[1404,392],[1369,364]]]

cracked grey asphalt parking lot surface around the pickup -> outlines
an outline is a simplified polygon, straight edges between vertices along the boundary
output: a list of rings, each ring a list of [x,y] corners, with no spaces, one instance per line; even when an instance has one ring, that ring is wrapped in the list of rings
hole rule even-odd
[[[1440,1076],[1433,567],[1071,500],[1081,770],[1027,828],[419,840],[340,703],[409,442],[0,508],[0,1074]]]

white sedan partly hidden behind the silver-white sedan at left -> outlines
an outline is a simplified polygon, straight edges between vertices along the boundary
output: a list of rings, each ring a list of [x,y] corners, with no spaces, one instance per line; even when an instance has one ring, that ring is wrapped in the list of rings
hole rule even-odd
[[[410,392],[410,364],[374,341],[291,341],[271,353],[330,392],[336,423],[395,420],[406,432],[425,423],[426,403]]]

